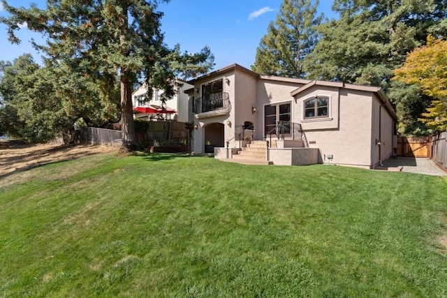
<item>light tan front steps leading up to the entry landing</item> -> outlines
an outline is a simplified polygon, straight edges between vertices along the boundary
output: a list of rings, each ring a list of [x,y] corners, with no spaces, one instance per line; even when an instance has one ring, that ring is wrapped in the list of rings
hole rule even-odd
[[[267,161],[267,142],[266,141],[251,141],[247,147],[238,151],[238,154],[233,155],[233,158],[228,158],[223,161],[230,161],[233,163],[244,163],[246,165],[273,165],[272,161]]]

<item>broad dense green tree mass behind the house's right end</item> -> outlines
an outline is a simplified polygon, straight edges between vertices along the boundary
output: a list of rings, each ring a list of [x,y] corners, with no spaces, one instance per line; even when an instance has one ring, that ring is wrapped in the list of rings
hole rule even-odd
[[[393,69],[429,33],[446,36],[447,2],[336,0],[332,8],[340,18],[318,27],[321,39],[305,61],[309,77],[383,87],[397,105],[403,133],[430,100],[418,88],[391,82]]]

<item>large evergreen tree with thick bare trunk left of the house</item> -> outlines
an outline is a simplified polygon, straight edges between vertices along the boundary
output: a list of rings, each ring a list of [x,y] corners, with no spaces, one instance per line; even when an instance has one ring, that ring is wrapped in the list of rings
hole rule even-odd
[[[68,82],[73,82],[76,75],[85,77],[96,84],[103,98],[111,100],[112,88],[103,87],[115,84],[118,74],[123,148],[129,148],[135,144],[131,93],[138,79],[144,78],[149,87],[164,89],[166,98],[175,91],[172,59],[179,55],[163,43],[163,13],[156,11],[158,2],[47,0],[47,8],[40,9],[34,4],[14,8],[2,0],[10,17],[0,21],[7,24],[13,43],[20,42],[15,36],[18,24],[26,22],[28,29],[43,33],[46,45],[34,45],[52,64],[72,74]],[[197,54],[197,61],[212,61],[207,53]]]

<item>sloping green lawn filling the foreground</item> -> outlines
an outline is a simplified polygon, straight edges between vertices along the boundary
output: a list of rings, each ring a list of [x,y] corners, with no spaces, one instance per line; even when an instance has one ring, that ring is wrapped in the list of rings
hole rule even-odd
[[[447,296],[442,177],[105,154],[0,186],[0,297]]]

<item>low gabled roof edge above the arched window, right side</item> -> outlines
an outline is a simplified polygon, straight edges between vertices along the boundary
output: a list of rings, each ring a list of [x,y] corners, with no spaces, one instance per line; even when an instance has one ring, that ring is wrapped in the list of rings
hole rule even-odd
[[[302,91],[305,91],[313,86],[325,86],[325,87],[337,87],[337,88],[343,88],[343,89],[351,89],[351,90],[358,90],[358,91],[365,91],[365,92],[372,92],[377,95],[379,100],[387,107],[388,112],[390,112],[391,116],[397,120],[397,115],[394,111],[393,105],[391,105],[390,100],[386,97],[385,93],[383,93],[383,90],[381,87],[373,87],[373,86],[362,86],[362,85],[355,85],[355,84],[345,84],[344,82],[328,82],[328,81],[319,81],[319,80],[313,80],[309,81],[304,86],[295,89],[291,92],[291,96],[295,96],[297,94],[300,94]]]

